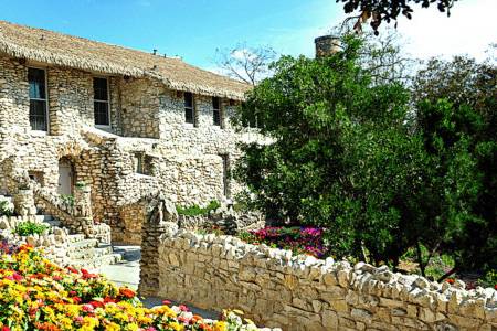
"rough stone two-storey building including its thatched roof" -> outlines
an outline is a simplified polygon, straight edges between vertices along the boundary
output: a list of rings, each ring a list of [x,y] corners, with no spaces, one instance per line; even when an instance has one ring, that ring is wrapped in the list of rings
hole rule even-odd
[[[157,192],[223,201],[236,143],[255,139],[230,124],[248,88],[180,58],[0,21],[0,194],[28,175],[59,196],[84,182],[116,241],[139,235],[138,205]]]

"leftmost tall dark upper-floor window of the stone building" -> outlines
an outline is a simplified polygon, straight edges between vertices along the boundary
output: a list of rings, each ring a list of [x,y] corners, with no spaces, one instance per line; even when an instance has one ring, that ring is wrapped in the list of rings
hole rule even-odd
[[[30,125],[32,130],[47,131],[46,76],[41,68],[28,68],[30,83]]]

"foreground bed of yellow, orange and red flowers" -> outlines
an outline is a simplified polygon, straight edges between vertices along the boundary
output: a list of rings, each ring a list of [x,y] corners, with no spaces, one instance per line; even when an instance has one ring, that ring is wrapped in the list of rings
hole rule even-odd
[[[257,330],[234,312],[202,319],[184,306],[147,309],[135,291],[61,268],[30,246],[0,245],[0,330]],[[165,302],[168,303],[168,302]]]

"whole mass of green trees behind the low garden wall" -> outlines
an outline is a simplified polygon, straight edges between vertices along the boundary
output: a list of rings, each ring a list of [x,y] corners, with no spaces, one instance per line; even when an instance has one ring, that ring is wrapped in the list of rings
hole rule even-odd
[[[415,254],[423,274],[445,255],[451,273],[496,268],[495,70],[466,75],[470,62],[455,60],[463,68],[437,75],[450,64],[429,65],[410,100],[401,84],[372,83],[360,41],[342,45],[325,58],[282,57],[248,95],[235,122],[256,121],[273,142],[242,146],[242,202],[326,228],[339,257],[396,266],[425,247]]]

